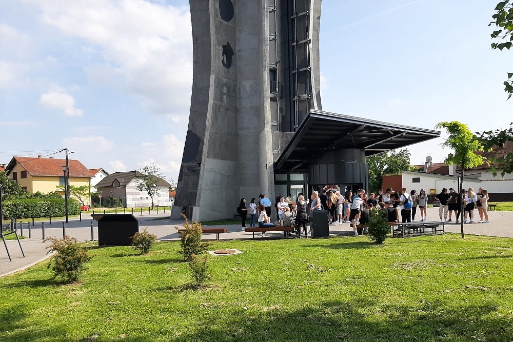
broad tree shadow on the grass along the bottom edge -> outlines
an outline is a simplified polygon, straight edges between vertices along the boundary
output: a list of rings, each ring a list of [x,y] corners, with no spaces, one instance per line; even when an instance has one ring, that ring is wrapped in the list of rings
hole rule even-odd
[[[260,311],[241,306],[217,316],[202,309],[205,320],[175,337],[176,341],[506,341],[511,322],[494,306],[411,308],[378,301],[327,301],[295,311]],[[209,314],[211,311],[212,314]],[[380,315],[377,315],[377,311]]]

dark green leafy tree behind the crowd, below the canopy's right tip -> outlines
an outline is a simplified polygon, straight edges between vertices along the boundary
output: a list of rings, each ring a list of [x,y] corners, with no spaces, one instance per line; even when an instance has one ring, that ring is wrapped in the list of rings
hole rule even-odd
[[[392,150],[373,155],[367,158],[367,164],[369,167],[369,190],[377,192],[381,189],[384,175],[411,169],[410,151],[408,149],[398,152]]]

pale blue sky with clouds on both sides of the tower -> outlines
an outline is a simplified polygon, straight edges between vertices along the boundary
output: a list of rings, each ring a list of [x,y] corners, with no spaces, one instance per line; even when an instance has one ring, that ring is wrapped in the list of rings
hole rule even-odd
[[[496,3],[324,0],[323,110],[507,127],[513,52],[490,49]],[[0,164],[67,147],[88,168],[153,162],[176,179],[191,85],[188,1],[0,1]],[[442,142],[409,147],[412,164],[442,162]]]

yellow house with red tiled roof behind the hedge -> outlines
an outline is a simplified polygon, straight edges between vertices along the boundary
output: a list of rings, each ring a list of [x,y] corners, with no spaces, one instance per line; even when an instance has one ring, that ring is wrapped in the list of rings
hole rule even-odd
[[[66,159],[43,158],[42,156],[12,157],[5,171],[9,178],[29,193],[59,192],[64,195],[64,191],[58,190],[57,186],[64,185],[62,167],[65,165]],[[68,165],[69,184],[76,187],[89,186],[91,171],[75,159],[69,159]],[[88,204],[88,202],[89,199],[86,199],[85,203]]]

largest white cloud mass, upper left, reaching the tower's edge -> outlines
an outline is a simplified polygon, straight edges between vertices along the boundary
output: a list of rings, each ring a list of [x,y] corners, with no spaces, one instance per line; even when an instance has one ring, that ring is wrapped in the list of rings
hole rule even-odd
[[[153,113],[189,111],[192,44],[188,8],[144,0],[27,2],[40,8],[44,23],[98,48],[99,52],[90,49],[89,53],[103,58],[105,64],[86,69],[95,81],[102,74],[121,75],[126,88]]]

